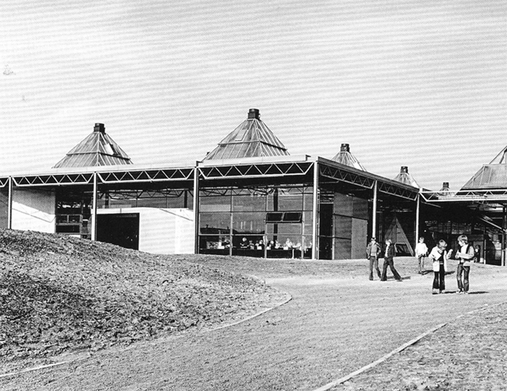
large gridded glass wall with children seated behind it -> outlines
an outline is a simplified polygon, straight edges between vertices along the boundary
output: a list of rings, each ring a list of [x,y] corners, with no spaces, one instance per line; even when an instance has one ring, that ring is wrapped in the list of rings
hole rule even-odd
[[[313,188],[201,190],[199,253],[311,258]]]

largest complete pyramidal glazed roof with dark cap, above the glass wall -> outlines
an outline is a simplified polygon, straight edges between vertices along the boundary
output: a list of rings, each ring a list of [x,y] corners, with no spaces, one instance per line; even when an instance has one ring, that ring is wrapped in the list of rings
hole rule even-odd
[[[287,149],[260,119],[258,109],[227,135],[204,160],[288,155]]]

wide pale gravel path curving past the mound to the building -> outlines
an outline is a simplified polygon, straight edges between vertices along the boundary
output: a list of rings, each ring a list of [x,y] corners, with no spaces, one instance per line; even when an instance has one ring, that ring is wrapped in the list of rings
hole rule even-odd
[[[507,291],[507,268],[474,265],[470,273],[473,294],[433,296],[432,273],[416,274],[411,258],[395,259],[403,282],[369,281],[362,260],[209,261],[203,257],[200,262],[256,275],[293,299],[235,326],[95,352],[74,364],[0,379],[0,388],[312,390],[379,359],[438,324],[505,301]],[[448,275],[446,282],[449,292],[454,291],[455,275]],[[504,325],[505,318],[483,330],[494,332],[499,324]],[[479,326],[469,320],[467,327]],[[439,334],[434,335],[438,338]],[[448,351],[447,343],[439,339],[437,344]],[[402,364],[405,377],[419,365],[412,358]],[[335,389],[433,389],[420,388],[424,381],[401,383],[399,388],[375,387],[372,379],[383,382],[384,372],[372,373],[364,383],[348,382]]]

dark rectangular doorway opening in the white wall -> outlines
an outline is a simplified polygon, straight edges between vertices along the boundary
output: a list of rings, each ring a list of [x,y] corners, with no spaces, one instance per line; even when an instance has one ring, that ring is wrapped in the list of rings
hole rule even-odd
[[[139,250],[139,214],[97,215],[97,240]]]

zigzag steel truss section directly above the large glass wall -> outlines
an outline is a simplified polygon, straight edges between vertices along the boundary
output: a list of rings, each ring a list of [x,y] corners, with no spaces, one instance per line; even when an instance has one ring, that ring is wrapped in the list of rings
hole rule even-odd
[[[304,175],[312,164],[296,162],[199,167],[199,173],[204,179]]]

